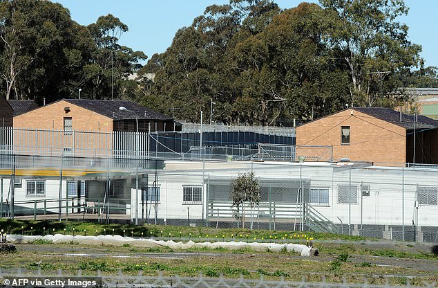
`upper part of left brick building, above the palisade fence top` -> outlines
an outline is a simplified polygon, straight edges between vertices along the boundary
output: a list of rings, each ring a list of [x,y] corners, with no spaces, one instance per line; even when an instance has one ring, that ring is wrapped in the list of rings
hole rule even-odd
[[[131,111],[122,111],[125,107]],[[62,99],[15,116],[15,128],[89,132],[173,131],[173,118],[131,101]]]

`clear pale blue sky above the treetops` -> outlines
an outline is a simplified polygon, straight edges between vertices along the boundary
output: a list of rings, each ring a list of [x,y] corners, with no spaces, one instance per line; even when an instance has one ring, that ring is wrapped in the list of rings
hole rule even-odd
[[[94,23],[99,16],[112,14],[129,28],[119,43],[143,51],[149,58],[166,51],[179,28],[191,25],[211,4],[225,4],[229,0],[52,0],[70,10],[73,20],[82,25]],[[280,8],[294,8],[302,1],[276,0]],[[318,1],[308,1],[318,2]],[[425,66],[438,66],[438,1],[405,0],[410,8],[408,16],[399,21],[408,24],[409,39],[421,44]]]

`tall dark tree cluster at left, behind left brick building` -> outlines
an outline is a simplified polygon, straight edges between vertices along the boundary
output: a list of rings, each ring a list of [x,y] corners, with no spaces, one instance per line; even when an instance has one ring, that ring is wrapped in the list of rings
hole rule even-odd
[[[146,55],[117,44],[127,30],[113,15],[86,27],[59,3],[0,1],[2,96],[51,102],[75,98],[81,88],[84,98],[111,99],[111,91],[115,98],[131,98],[128,75]]]

